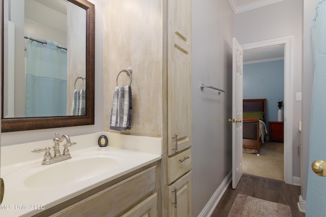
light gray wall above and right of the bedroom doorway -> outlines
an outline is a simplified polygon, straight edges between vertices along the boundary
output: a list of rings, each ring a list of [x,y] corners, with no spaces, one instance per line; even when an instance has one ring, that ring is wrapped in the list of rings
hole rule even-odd
[[[293,36],[293,176],[300,177],[300,145],[298,122],[301,121],[301,102],[295,101],[295,93],[302,91],[302,2],[284,0],[282,2],[250,10],[235,15],[235,37],[240,44],[260,42],[269,39]],[[295,108],[295,109],[294,109]]]

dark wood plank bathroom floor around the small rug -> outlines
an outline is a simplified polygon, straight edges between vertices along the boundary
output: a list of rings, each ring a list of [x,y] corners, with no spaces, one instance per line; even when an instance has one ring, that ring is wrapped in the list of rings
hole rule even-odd
[[[284,181],[243,174],[236,189],[232,189],[232,183],[229,185],[211,217],[228,216],[237,194],[289,205],[292,217],[304,217],[297,207],[300,191],[299,186]]]

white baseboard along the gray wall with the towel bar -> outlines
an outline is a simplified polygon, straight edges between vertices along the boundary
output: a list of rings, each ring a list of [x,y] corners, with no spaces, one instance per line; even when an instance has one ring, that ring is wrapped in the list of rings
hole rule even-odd
[[[213,213],[215,207],[220,202],[220,200],[221,200],[224,192],[229,187],[229,184],[230,184],[231,181],[232,181],[232,170],[224,178],[224,180],[220,184],[219,188],[214,192],[213,196],[209,199],[209,201],[207,202],[206,206],[199,213],[198,217],[210,216]]]

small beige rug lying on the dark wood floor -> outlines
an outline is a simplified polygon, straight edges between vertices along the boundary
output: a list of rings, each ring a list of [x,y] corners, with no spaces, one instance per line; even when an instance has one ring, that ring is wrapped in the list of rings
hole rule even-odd
[[[248,195],[238,194],[232,204],[228,217],[277,216],[290,217],[291,208],[281,203],[270,202]]]

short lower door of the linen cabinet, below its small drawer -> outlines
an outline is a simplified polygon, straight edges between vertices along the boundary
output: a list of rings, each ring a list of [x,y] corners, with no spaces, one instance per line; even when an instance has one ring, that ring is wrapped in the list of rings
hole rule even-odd
[[[169,216],[192,216],[192,171],[169,187]]]

